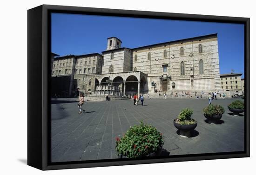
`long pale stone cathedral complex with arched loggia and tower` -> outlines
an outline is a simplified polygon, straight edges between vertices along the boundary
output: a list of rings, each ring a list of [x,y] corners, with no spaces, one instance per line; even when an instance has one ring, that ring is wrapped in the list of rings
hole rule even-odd
[[[217,34],[132,49],[121,45],[121,39],[110,37],[101,54],[55,57],[52,95],[73,97],[77,88],[93,93],[108,80],[131,96],[222,89]]]

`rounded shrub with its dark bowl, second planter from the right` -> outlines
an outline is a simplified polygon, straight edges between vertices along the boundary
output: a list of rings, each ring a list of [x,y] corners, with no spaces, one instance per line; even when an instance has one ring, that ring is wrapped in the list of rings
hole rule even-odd
[[[219,123],[224,112],[224,108],[220,105],[209,105],[203,108],[204,117],[209,120],[210,124]]]

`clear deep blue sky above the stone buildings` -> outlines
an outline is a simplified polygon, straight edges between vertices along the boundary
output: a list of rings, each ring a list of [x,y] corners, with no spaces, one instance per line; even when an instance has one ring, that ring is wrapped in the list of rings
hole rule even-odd
[[[51,25],[51,51],[60,56],[101,53],[113,36],[122,47],[135,48],[217,33],[220,73],[244,74],[242,24],[52,13]]]

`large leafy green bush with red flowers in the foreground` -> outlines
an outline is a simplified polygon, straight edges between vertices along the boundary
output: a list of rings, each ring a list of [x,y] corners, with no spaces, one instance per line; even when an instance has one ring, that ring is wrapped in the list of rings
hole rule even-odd
[[[132,126],[120,139],[116,137],[116,150],[118,155],[129,158],[147,156],[163,145],[162,133],[152,125]]]

